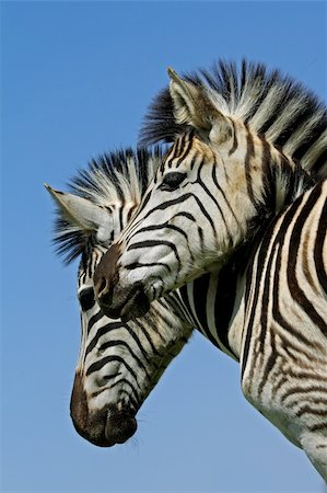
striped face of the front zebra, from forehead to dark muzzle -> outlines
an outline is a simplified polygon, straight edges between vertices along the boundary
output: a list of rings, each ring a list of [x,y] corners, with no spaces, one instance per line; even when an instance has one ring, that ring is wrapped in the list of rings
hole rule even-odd
[[[110,317],[147,312],[154,299],[218,270],[243,240],[255,208],[244,168],[225,161],[227,153],[225,146],[215,156],[191,133],[168,151],[139,213],[95,272],[100,302]]]

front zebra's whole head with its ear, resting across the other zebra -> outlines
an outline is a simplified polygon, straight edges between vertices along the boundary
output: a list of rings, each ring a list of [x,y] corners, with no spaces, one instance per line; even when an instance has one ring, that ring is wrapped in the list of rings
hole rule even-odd
[[[288,129],[292,116],[299,116],[302,96],[297,90],[293,88],[294,101],[289,98],[288,115],[280,117],[281,129],[275,122],[268,138],[257,131],[258,122],[266,127],[267,122],[254,108],[249,111],[242,91],[238,106],[235,101],[229,105],[212,84],[182,79],[171,69],[168,73],[174,125],[183,126],[183,131],[163,158],[138,211],[94,275],[101,306],[107,314],[124,320],[144,314],[151,301],[205,272],[219,271],[235,249],[250,241],[305,188],[304,183],[312,183],[291,152],[282,152],[272,138]],[[266,99],[272,104],[271,98],[282,84],[275,91],[271,87]],[[259,89],[254,84],[247,95],[257,98],[256,107],[266,106],[267,111]],[[242,111],[250,113],[256,124],[246,121]],[[326,122],[326,112],[317,113]],[[316,121],[313,118],[313,126]],[[307,122],[304,127],[308,135]],[[326,148],[326,131],[319,130]],[[289,149],[294,150],[294,141]],[[315,152],[317,156],[317,149]]]

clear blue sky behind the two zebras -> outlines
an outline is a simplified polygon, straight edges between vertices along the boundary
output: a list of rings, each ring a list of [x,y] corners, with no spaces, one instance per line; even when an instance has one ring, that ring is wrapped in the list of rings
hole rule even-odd
[[[87,160],[136,145],[177,71],[243,56],[326,96],[324,2],[2,2],[2,490],[317,492],[304,454],[243,398],[238,367],[197,335],[139,413],[96,448],[69,417],[77,263],[50,244],[52,203]]]

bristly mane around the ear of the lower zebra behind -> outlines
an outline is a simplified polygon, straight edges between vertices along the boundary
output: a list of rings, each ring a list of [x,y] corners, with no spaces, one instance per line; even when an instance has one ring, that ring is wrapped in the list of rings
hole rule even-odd
[[[92,159],[86,169],[78,171],[68,184],[69,192],[103,207],[124,202],[139,204],[161,157],[162,149],[157,146],[151,151],[128,148],[104,153]],[[70,223],[57,208],[54,243],[68,265],[94,243],[94,237]]]

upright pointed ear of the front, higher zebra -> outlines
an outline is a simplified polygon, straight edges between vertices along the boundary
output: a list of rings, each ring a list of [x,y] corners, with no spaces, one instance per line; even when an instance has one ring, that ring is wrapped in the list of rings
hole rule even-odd
[[[167,72],[176,122],[205,131],[215,144],[231,138],[233,128],[230,121],[214,106],[205,90],[180,79],[172,68]]]

